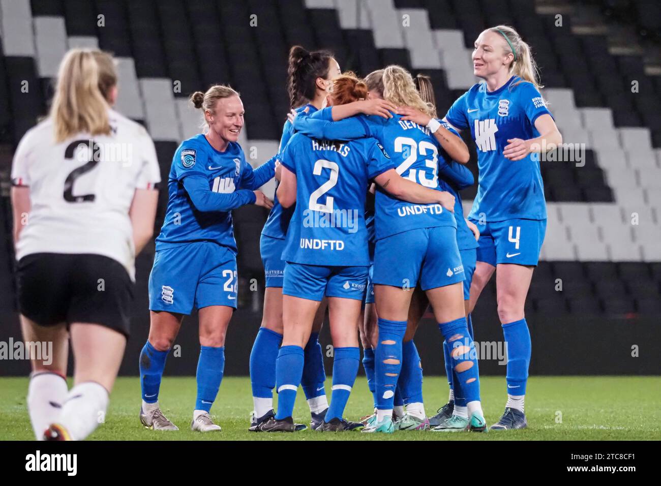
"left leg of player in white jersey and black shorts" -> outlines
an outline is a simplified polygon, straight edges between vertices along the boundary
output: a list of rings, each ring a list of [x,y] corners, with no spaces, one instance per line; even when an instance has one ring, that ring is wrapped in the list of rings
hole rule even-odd
[[[28,413],[37,440],[43,440],[44,431],[56,422],[67,398],[67,358],[69,333],[64,323],[52,327],[38,326],[24,315],[20,327],[26,348],[36,343],[41,355],[30,355],[30,384],[28,385]],[[49,352],[50,350],[50,352]]]

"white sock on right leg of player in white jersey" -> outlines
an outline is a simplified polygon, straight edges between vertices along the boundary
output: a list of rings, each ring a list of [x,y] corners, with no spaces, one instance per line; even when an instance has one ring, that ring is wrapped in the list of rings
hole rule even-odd
[[[75,385],[59,414],[58,424],[63,426],[72,440],[83,440],[105,421],[108,391],[97,382]]]

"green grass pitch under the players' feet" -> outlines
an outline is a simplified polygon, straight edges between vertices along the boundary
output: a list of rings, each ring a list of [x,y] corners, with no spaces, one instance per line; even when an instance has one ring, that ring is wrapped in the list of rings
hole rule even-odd
[[[441,377],[424,378],[428,415],[447,401],[447,384]],[[485,417],[489,424],[500,417],[506,399],[504,377],[481,378]],[[180,430],[155,432],[145,429],[137,418],[140,407],[139,380],[118,378],[106,423],[91,440],[660,440],[661,378],[658,376],[544,376],[528,382],[525,413],[528,428],[488,434],[395,432],[321,433],[304,430],[293,434],[248,432],[253,409],[249,378],[226,377],[212,408],[222,432],[192,432],[190,420],[195,400],[195,378],[165,377],[161,385],[161,407]],[[32,440],[26,411],[27,378],[0,378],[0,440]],[[331,389],[330,380],[327,390]],[[371,394],[364,378],[358,378],[345,417],[359,419],[371,412]],[[294,410],[297,422],[309,423],[309,411],[299,389]]]

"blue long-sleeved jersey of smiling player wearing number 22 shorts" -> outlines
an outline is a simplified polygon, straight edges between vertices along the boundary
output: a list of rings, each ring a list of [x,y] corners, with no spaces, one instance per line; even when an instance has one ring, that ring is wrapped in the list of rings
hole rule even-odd
[[[156,249],[190,243],[214,241],[236,253],[230,211],[198,211],[184,188],[184,179],[202,176],[208,180],[209,189],[224,194],[238,194],[237,204],[254,202],[253,190],[273,177],[247,163],[239,143],[230,142],[224,152],[219,152],[198,134],[179,145],[173,157],[168,179],[168,205],[161,233],[156,238]]]

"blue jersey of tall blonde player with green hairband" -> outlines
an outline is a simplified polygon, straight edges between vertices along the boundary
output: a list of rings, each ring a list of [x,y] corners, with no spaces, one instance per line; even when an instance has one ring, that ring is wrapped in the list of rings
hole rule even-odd
[[[538,137],[535,120],[551,114],[533,84],[513,85],[516,81],[520,78],[513,76],[492,92],[486,91],[486,83],[478,83],[446,114],[452,126],[469,128],[477,145],[478,189],[469,215],[475,220],[546,219],[539,157],[529,154],[511,161],[502,155],[508,140]]]

